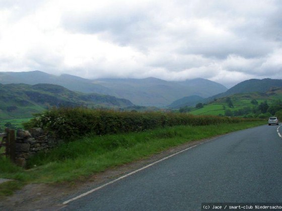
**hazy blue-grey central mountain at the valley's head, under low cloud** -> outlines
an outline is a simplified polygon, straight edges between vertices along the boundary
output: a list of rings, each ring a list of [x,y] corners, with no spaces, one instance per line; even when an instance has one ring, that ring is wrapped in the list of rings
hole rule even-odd
[[[137,105],[167,107],[174,100],[187,95],[207,97],[227,90],[222,84],[196,78],[185,81],[166,81],[158,78],[97,79],[100,84],[114,91],[114,96],[126,98]]]

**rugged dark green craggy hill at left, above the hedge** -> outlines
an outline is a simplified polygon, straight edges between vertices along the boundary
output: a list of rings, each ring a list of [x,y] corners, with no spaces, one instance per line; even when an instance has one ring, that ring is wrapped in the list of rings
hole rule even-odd
[[[0,84],[0,119],[28,118],[52,107],[123,108],[133,104],[110,95],[84,94],[53,84]]]

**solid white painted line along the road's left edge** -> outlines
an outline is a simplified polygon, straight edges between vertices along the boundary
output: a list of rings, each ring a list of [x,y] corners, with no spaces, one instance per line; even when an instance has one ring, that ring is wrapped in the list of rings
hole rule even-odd
[[[217,138],[218,138],[218,137],[217,137]],[[207,141],[212,141],[212,140],[215,140],[215,139],[217,139],[217,138],[209,139],[209,140],[207,140]],[[207,141],[205,141],[205,142],[207,142]],[[161,159],[161,160],[157,160],[157,161],[155,161],[154,163],[151,163],[151,164],[149,164],[149,165],[147,165],[147,166],[144,166],[144,167],[142,167],[142,168],[139,168],[139,169],[137,169],[137,170],[135,170],[135,171],[132,171],[132,172],[130,172],[130,173],[128,173],[128,174],[125,174],[125,175],[123,175],[123,176],[121,176],[121,177],[119,177],[119,178],[117,178],[117,179],[115,179],[115,180],[113,180],[113,181],[110,181],[110,182],[108,182],[108,183],[106,183],[106,184],[103,184],[103,185],[101,185],[101,186],[99,186],[99,187],[96,187],[96,188],[94,188],[94,189],[92,189],[92,190],[89,190],[89,191],[87,191],[87,192],[85,192],[85,193],[82,193],[82,194],[80,194],[80,195],[78,195],[78,196],[76,196],[76,197],[74,197],[74,198],[71,198],[71,199],[69,199],[69,200],[66,200],[66,201],[62,202],[62,204],[67,204],[67,203],[69,203],[69,202],[71,202],[71,201],[77,200],[77,199],[79,199],[79,198],[81,198],[81,197],[83,197],[83,196],[86,196],[86,195],[88,195],[88,194],[90,194],[90,193],[92,193],[92,192],[94,192],[94,191],[96,191],[96,190],[99,190],[99,189],[101,189],[101,188],[103,188],[103,187],[105,187],[105,186],[107,186],[107,185],[109,185],[109,184],[112,184],[112,183],[114,183],[114,182],[116,182],[116,181],[118,181],[118,180],[121,180],[121,179],[123,179],[123,178],[125,178],[125,177],[128,177],[128,176],[130,176],[130,175],[132,175],[132,174],[135,174],[135,173],[137,173],[138,171],[142,171],[142,170],[144,170],[144,169],[146,169],[146,168],[148,168],[148,167],[150,167],[150,166],[153,166],[153,165],[155,165],[155,164],[157,164],[157,163],[159,163],[159,162],[161,162],[161,161],[163,161],[163,160],[166,160],[166,159],[168,159],[168,158],[171,158],[171,157],[173,157],[173,156],[175,156],[175,155],[177,155],[177,154],[179,154],[179,153],[185,152],[185,151],[187,151],[187,150],[189,150],[189,149],[191,149],[191,148],[193,148],[193,147],[196,147],[196,146],[198,146],[198,145],[200,145],[200,144],[203,144],[203,143],[205,143],[205,142],[199,143],[199,144],[194,145],[194,146],[192,146],[192,147],[188,147],[188,148],[186,148],[186,149],[184,149],[184,150],[181,150],[181,151],[176,152],[176,153],[174,153],[174,154],[172,154],[172,155],[169,155],[169,156],[167,156],[167,157],[165,157],[165,158],[163,158],[163,159]]]

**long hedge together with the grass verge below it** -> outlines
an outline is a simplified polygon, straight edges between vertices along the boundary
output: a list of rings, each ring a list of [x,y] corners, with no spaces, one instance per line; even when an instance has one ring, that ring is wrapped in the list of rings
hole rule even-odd
[[[259,126],[265,121],[62,108],[37,115],[25,126],[36,124],[52,130],[53,135],[65,142],[48,153],[37,153],[26,169],[1,157],[0,178],[14,180],[0,184],[0,195],[13,194],[28,183],[84,180],[107,168],[144,159],[171,147]]]

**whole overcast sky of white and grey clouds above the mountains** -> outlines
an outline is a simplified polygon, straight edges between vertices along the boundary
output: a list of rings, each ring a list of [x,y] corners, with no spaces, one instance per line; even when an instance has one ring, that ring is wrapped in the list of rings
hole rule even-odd
[[[280,0],[0,0],[0,71],[282,78]]]

